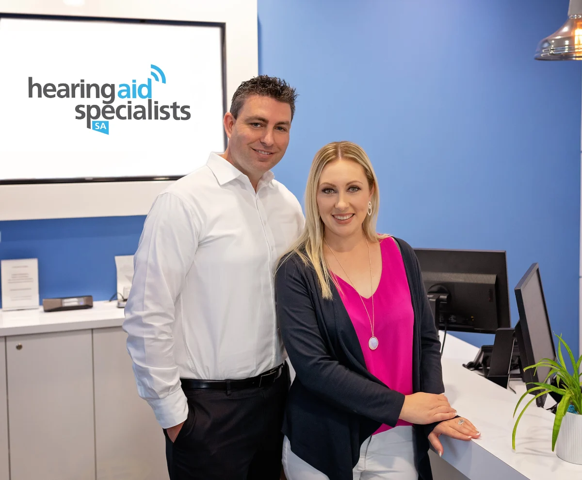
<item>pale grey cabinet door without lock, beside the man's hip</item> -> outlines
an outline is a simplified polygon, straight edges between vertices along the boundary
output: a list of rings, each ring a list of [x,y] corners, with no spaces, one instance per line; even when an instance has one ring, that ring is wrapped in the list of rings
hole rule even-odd
[[[137,395],[126,338],[93,331],[97,480],[167,480],[164,433]]]

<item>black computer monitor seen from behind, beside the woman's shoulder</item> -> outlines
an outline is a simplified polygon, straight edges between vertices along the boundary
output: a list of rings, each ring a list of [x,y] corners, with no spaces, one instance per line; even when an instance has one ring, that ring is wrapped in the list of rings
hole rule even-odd
[[[510,326],[505,252],[414,249],[441,330],[495,333]]]

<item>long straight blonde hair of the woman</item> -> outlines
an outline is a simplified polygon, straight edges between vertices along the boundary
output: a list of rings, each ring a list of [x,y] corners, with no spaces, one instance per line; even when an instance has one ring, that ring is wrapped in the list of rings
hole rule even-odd
[[[372,202],[372,214],[367,215],[362,224],[365,238],[370,242],[377,242],[380,238],[389,236],[376,233],[378,207],[380,206],[378,179],[376,178],[370,158],[368,158],[364,149],[352,142],[332,142],[322,147],[313,158],[309,177],[307,178],[307,186],[305,189],[305,229],[301,237],[283,254],[281,259],[284,260],[289,255],[296,253],[303,260],[304,264],[311,264],[317,274],[322,297],[328,300],[332,298],[330,281],[334,284],[336,283],[335,279],[329,274],[329,267],[325,261],[324,223],[321,220],[320,211],[317,206],[317,190],[321,172],[325,165],[339,158],[352,160],[360,164],[364,168],[368,186],[370,189],[374,189],[370,200]]]

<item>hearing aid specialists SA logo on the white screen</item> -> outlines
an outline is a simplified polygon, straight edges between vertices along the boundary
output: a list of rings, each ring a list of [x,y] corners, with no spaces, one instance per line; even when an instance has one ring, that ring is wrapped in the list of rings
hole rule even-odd
[[[120,83],[116,89],[115,83],[35,83],[33,77],[29,77],[29,98],[101,98],[99,104],[79,104],[74,107],[76,120],[85,120],[87,128],[96,132],[109,135],[109,120],[189,120],[190,105],[158,105],[158,101],[152,101],[152,78],[156,82],[166,83],[166,76],[161,68],[151,65],[151,77],[146,83],[137,84]],[[147,105],[134,104],[132,99],[147,100]],[[112,105],[117,99],[122,102]],[[171,111],[171,112],[170,112]]]

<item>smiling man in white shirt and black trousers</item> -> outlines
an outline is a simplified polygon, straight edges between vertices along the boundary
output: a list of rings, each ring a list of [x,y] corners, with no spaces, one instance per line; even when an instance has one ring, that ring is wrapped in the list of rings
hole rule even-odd
[[[304,219],[270,170],[289,144],[295,98],[274,77],[240,84],[225,153],[161,193],[145,220],[123,329],[171,480],[281,472],[289,372],[273,274]]]

